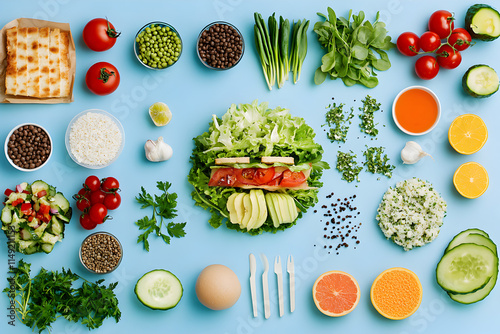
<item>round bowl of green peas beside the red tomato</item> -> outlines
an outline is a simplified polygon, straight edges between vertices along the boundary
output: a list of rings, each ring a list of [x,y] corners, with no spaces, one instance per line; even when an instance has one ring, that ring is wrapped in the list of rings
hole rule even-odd
[[[170,24],[150,22],[137,32],[134,52],[142,65],[153,70],[162,70],[179,60],[182,54],[182,39]]]

